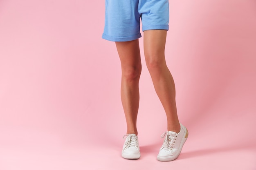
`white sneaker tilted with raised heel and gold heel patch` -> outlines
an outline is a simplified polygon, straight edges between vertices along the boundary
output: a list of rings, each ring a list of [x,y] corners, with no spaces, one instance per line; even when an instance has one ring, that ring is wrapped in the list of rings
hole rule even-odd
[[[180,124],[180,132],[164,132],[161,138],[164,138],[164,143],[159,150],[159,154],[157,155],[158,161],[173,161],[176,159],[182,150],[182,147],[189,135],[188,130],[185,126]]]

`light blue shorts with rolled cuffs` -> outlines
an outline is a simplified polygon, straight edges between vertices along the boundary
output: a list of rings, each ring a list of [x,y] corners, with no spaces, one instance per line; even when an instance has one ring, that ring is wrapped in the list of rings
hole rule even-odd
[[[169,29],[168,0],[106,0],[103,39],[131,41],[141,37],[142,31]]]

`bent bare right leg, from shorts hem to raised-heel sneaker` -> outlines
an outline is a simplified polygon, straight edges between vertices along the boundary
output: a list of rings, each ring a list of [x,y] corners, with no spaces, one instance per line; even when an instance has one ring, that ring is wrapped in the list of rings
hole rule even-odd
[[[175,102],[175,85],[164,55],[166,33],[166,30],[144,31],[144,53],[155,91],[166,112],[167,130],[178,133],[180,123]]]

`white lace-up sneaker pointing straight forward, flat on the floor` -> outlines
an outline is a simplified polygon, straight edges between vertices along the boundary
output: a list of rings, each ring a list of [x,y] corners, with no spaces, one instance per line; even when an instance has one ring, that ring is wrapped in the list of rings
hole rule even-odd
[[[124,135],[126,137],[123,150],[122,150],[122,157],[125,159],[139,159],[140,152],[139,152],[139,142],[138,137],[135,134],[127,134]]]

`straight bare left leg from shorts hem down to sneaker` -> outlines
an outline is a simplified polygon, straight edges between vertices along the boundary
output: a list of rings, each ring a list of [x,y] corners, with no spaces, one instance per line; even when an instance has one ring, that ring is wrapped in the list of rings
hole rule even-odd
[[[121,61],[121,101],[126,117],[127,134],[137,132],[137,114],[139,109],[139,77],[141,74],[141,58],[139,41],[116,42]]]

